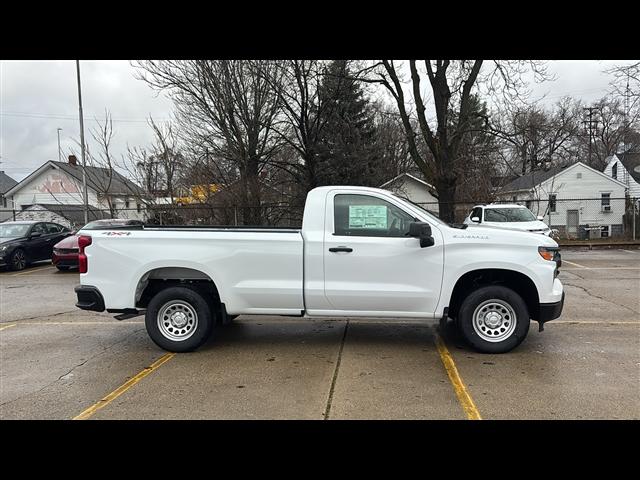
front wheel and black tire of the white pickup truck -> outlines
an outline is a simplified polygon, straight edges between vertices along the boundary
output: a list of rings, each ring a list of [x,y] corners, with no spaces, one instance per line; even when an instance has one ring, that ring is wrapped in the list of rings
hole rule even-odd
[[[488,317],[493,312],[494,317]],[[481,318],[475,326],[474,314]],[[469,294],[460,306],[457,320],[458,329],[465,340],[482,353],[505,353],[513,350],[526,338],[530,325],[529,310],[522,297],[509,288],[495,285],[481,287]],[[486,320],[491,320],[492,325],[484,323]],[[496,337],[492,340],[483,338],[494,335]]]

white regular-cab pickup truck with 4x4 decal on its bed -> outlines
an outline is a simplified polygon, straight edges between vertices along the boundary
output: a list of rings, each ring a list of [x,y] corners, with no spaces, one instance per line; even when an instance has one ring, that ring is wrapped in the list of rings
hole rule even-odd
[[[160,347],[189,351],[241,314],[456,321],[481,352],[507,352],[530,319],[560,316],[558,244],[448,225],[393,193],[319,187],[302,229],[96,227],[79,232],[76,306],[145,313]]]

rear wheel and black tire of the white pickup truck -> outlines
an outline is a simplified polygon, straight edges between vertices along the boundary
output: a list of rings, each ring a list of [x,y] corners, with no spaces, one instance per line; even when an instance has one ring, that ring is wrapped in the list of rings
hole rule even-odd
[[[161,327],[158,316],[163,312]],[[180,313],[183,313],[183,317],[178,320],[194,320],[193,330],[189,331],[191,323],[174,326],[172,315]],[[170,287],[158,292],[149,302],[145,315],[145,325],[151,340],[170,352],[195,350],[209,339],[214,323],[207,301],[200,293],[186,287]],[[174,338],[171,338],[172,335],[175,335]],[[180,336],[185,338],[179,339]]]

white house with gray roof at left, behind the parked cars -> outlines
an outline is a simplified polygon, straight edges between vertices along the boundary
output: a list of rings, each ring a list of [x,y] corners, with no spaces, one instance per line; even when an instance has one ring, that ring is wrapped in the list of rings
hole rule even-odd
[[[86,167],[88,204],[119,218],[144,218],[143,190],[115,170]],[[50,160],[10,188],[5,196],[8,208],[26,210],[35,205],[65,206],[75,211],[84,204],[82,167],[74,156],[69,162]],[[51,211],[51,208],[47,207]],[[38,210],[31,208],[31,210]]]

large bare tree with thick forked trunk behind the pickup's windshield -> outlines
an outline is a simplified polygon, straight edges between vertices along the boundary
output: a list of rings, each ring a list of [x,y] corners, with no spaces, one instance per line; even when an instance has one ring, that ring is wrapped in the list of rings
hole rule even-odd
[[[539,62],[493,61],[484,71],[483,66],[483,60],[425,60],[422,66],[416,60],[410,60],[412,98],[405,94],[401,71],[393,60],[382,60],[371,67],[371,73],[365,79],[383,85],[395,100],[411,157],[436,187],[440,216],[449,222],[454,220],[453,204],[458,185],[455,167],[460,160],[460,145],[475,120],[470,106],[476,84],[482,83],[488,92],[516,101],[526,86],[523,76],[527,67],[538,79],[546,78],[544,66]],[[424,77],[433,100],[435,122],[427,118]],[[418,119],[417,129],[411,121],[412,104]],[[420,142],[428,147],[431,158],[421,153]]]

